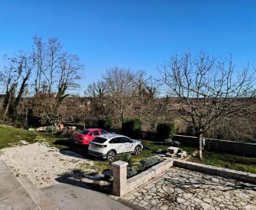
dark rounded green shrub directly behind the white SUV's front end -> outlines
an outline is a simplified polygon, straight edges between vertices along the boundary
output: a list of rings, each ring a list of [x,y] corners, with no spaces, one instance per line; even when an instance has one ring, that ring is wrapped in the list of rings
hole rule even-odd
[[[130,138],[140,138],[142,122],[137,118],[127,117],[122,123],[122,131],[124,135],[129,136]]]

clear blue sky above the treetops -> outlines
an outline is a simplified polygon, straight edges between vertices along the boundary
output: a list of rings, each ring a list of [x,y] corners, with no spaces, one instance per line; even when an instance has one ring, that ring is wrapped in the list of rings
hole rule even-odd
[[[158,65],[185,51],[231,52],[238,67],[255,67],[255,9],[253,0],[1,0],[0,56],[29,51],[34,35],[58,37],[85,64],[83,86],[114,66],[157,76]]]

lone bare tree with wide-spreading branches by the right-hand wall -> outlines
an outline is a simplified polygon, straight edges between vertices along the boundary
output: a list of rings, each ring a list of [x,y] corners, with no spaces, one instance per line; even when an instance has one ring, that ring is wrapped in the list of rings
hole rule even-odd
[[[159,72],[173,96],[173,109],[195,128],[200,158],[203,133],[220,118],[235,116],[253,106],[255,76],[249,75],[248,67],[235,71],[231,55],[226,61],[204,52],[194,59],[190,53],[174,55]]]

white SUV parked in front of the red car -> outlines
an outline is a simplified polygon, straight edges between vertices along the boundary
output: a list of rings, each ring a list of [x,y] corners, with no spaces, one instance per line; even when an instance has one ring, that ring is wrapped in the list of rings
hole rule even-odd
[[[113,161],[116,156],[133,153],[139,155],[143,146],[140,141],[130,139],[124,135],[107,133],[93,139],[88,153],[100,158]]]

